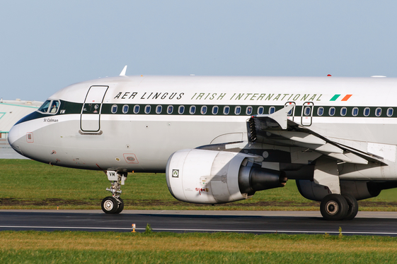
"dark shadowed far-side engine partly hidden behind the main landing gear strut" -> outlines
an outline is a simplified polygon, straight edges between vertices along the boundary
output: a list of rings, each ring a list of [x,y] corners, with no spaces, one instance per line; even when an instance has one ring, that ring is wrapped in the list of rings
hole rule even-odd
[[[298,190],[304,198],[309,200],[321,201],[330,194],[328,187],[315,184],[311,180],[297,180]],[[340,192],[348,193],[356,200],[363,200],[379,196],[381,186],[367,181],[340,181]]]

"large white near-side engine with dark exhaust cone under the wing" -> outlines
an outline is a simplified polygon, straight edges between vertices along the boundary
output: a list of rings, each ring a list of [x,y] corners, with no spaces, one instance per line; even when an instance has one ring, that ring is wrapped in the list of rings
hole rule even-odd
[[[214,150],[179,150],[169,157],[168,189],[189,203],[229,203],[285,185],[282,172],[256,167],[255,156]]]

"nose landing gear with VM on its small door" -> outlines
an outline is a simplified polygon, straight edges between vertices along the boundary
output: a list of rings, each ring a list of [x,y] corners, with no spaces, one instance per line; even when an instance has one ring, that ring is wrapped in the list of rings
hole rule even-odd
[[[120,198],[121,186],[127,179],[127,172],[107,171],[108,180],[112,186],[106,188],[112,196],[103,198],[101,208],[106,214],[119,214],[124,209],[124,201]]]

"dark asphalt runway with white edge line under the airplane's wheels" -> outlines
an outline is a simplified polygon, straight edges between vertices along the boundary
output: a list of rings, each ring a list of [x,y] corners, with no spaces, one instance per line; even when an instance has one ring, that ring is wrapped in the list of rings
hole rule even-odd
[[[254,234],[339,234],[397,236],[397,212],[359,212],[354,220],[330,222],[319,212],[0,210],[0,230],[143,232],[242,232]]]

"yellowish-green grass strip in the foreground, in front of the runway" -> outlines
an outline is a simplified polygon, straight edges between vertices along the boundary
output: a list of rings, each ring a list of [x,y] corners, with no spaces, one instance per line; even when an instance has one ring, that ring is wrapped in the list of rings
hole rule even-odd
[[[397,238],[0,232],[1,263],[394,263]]]

